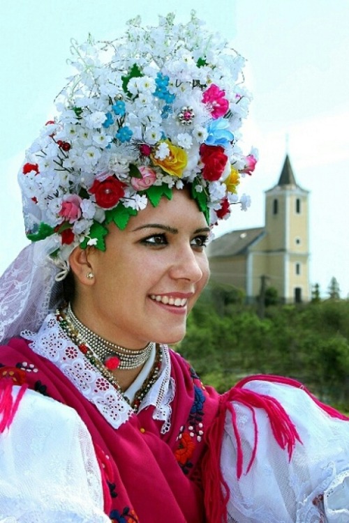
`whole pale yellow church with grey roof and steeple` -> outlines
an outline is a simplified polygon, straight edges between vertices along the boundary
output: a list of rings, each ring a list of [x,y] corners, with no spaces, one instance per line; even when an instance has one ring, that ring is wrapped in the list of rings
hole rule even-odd
[[[211,280],[244,289],[248,301],[274,287],[283,303],[310,301],[309,191],[285,158],[279,182],[265,192],[265,227],[216,238],[208,248]]]

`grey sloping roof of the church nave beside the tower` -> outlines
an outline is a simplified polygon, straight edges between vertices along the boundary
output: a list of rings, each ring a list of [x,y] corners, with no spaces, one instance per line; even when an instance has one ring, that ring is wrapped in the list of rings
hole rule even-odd
[[[251,243],[257,240],[264,232],[264,227],[255,227],[254,229],[241,229],[223,234],[223,236],[216,238],[209,244],[208,257],[243,255]]]

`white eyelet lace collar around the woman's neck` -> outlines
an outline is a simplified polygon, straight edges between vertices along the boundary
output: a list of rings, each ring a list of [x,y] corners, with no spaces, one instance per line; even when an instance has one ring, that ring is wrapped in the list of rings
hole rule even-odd
[[[54,314],[49,314],[38,333],[24,331],[22,336],[31,343],[29,347],[44,358],[52,361],[61,372],[73,383],[84,397],[93,403],[115,429],[132,416],[133,409],[119,393],[98,372],[78,347],[59,327]],[[139,411],[153,405],[153,418],[163,420],[161,432],[170,430],[171,402],[174,398],[174,380],[170,377],[170,354],[166,345],[161,345],[163,361],[156,383],[143,398]]]

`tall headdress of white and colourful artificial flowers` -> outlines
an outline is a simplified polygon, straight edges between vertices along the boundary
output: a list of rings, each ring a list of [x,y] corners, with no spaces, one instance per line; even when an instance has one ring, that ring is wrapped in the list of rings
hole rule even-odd
[[[77,74],[19,174],[31,241],[52,236],[61,259],[76,245],[105,250],[110,222],[123,229],[185,185],[210,225],[232,203],[246,209],[237,185],[256,154],[237,145],[251,98],[239,80],[244,59],[195,13],[146,29],[138,17],[121,38],[73,40],[71,52]]]

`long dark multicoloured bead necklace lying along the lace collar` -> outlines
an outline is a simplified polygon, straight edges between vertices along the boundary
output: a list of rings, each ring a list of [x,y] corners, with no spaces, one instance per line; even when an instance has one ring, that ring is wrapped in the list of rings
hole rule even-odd
[[[128,400],[128,397],[126,397],[122,391],[121,387],[119,385],[119,382],[117,379],[113,376],[110,369],[108,369],[98,358],[96,354],[94,354],[94,351],[91,350],[89,345],[84,342],[82,339],[82,335],[75,326],[70,322],[69,318],[66,315],[66,312],[61,309],[57,309],[56,311],[56,318],[57,321],[59,321],[59,326],[62,328],[62,330],[68,335],[70,340],[77,345],[77,348],[82,352],[82,354],[87,358],[87,360],[96,367],[96,369],[101,372],[102,376],[109,381],[109,383],[116,388],[116,390],[124,397],[124,400],[131,406],[133,411],[138,412],[138,409],[140,407],[140,404],[143,400],[143,398],[147,395],[150,388],[154,385],[156,382],[156,379],[158,379],[158,374],[161,369],[161,363],[163,361],[163,353],[161,351],[161,348],[158,344],[156,344],[156,356],[154,365],[151,368],[151,371],[149,372],[149,375],[147,379],[145,379],[144,383],[142,384],[142,387],[135,393],[135,397],[132,401]],[[144,350],[144,349],[143,349]]]

